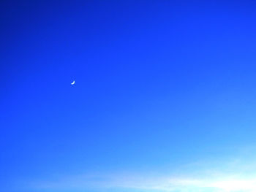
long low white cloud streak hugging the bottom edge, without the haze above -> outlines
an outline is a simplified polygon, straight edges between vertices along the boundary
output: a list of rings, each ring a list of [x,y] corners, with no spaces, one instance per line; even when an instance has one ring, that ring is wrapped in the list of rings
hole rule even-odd
[[[205,176],[207,177],[207,176]],[[74,177],[70,180],[59,180],[53,183],[41,183],[37,188],[45,189],[66,189],[66,190],[85,190],[86,188],[125,188],[140,191],[218,191],[218,192],[255,192],[256,176],[251,178],[238,177],[236,175],[226,175],[222,177],[193,178],[193,177],[147,177],[146,175],[136,175],[129,177],[124,175],[105,176],[100,179],[97,177]]]

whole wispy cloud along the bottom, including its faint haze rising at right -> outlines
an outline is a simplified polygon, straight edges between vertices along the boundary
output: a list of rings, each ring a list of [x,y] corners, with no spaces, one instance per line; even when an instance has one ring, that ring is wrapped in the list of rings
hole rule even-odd
[[[218,168],[219,164],[219,168]],[[256,174],[254,163],[241,159],[228,162],[210,162],[200,168],[194,164],[189,172],[182,174],[116,173],[86,174],[59,178],[56,181],[39,182],[34,188],[48,190],[83,191],[101,188],[103,191],[125,189],[128,191],[166,192],[255,192]],[[191,164],[193,165],[193,164]],[[181,168],[182,169],[182,168]],[[191,172],[192,169],[195,169]]]

